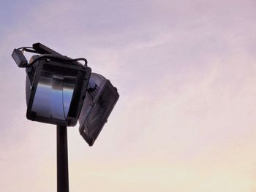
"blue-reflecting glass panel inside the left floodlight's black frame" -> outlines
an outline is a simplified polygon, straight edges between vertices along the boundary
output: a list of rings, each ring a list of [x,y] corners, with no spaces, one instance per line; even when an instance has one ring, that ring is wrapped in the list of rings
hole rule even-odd
[[[37,116],[66,120],[75,88],[77,72],[45,64],[31,107]]]

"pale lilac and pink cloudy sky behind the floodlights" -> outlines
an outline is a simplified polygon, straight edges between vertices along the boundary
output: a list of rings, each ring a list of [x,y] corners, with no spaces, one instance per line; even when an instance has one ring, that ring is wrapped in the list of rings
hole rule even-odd
[[[1,1],[1,191],[56,191],[56,127],[26,120],[16,47],[84,57],[120,98],[69,191],[256,191],[256,1]]]

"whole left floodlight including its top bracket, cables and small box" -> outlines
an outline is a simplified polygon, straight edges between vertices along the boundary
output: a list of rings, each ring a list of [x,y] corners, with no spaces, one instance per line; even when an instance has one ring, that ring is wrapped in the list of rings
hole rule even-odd
[[[71,59],[43,48],[39,43],[33,45],[33,50],[23,48],[42,53],[32,56],[29,63],[21,50],[15,49],[12,53],[16,64],[26,68],[26,117],[42,123],[75,126],[91,69],[85,58]],[[78,63],[81,59],[86,61],[85,65]]]

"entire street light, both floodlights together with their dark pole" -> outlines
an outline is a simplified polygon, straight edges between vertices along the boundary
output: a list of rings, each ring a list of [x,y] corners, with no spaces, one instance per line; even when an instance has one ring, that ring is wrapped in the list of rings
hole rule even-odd
[[[28,62],[24,51],[36,55]],[[79,119],[80,134],[92,146],[118,100],[117,89],[91,73],[85,58],[69,58],[41,43],[14,49],[12,58],[26,69],[26,117],[57,126],[57,191],[67,192],[67,126]]]

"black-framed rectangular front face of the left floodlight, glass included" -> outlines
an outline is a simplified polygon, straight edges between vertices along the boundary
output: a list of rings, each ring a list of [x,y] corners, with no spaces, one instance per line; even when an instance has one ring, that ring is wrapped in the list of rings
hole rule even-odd
[[[42,58],[36,71],[26,116],[29,120],[75,126],[80,115],[91,69],[75,62]]]

